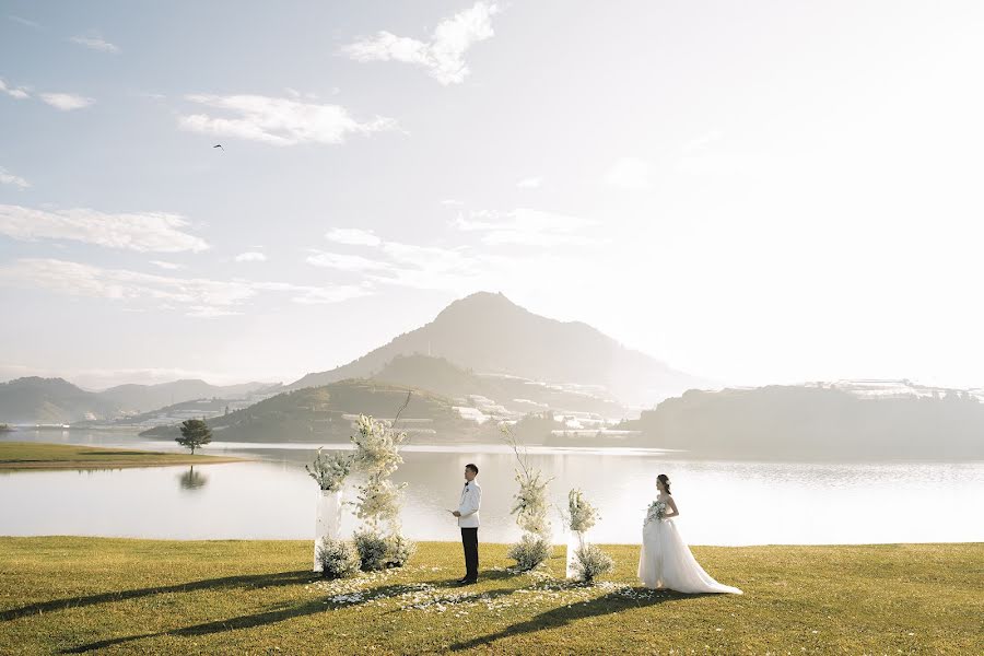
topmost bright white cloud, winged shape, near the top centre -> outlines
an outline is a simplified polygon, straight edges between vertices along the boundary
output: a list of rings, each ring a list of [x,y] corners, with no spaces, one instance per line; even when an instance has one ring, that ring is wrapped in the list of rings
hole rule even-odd
[[[476,2],[471,9],[443,20],[430,42],[378,32],[344,46],[342,54],[355,61],[402,61],[426,69],[441,84],[459,84],[468,77],[465,52],[494,35],[492,16],[499,13],[492,2]]]

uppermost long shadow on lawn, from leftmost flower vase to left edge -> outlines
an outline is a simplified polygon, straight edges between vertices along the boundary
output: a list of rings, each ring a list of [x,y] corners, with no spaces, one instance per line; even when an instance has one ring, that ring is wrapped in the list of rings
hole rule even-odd
[[[32,616],[42,612],[66,610],[69,608],[78,608],[80,606],[94,606],[96,604],[112,604],[114,601],[139,599],[140,597],[150,597],[152,595],[162,595],[166,593],[191,593],[195,590],[204,590],[210,588],[279,587],[284,585],[308,583],[316,577],[317,575],[306,571],[279,572],[277,574],[256,574],[249,576],[225,576],[222,578],[192,581],[190,583],[178,583],[168,586],[102,593],[98,595],[70,597],[67,599],[54,599],[51,601],[42,601],[40,604],[32,604],[30,606],[22,606],[21,608],[12,608],[10,610],[0,611],[0,621],[9,622],[17,618],[23,618],[25,616]]]

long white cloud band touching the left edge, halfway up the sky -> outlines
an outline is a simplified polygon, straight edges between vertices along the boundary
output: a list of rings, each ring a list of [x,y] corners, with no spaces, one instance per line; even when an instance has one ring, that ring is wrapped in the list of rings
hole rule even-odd
[[[107,248],[180,253],[209,245],[183,231],[189,222],[178,214],[138,212],[107,214],[90,209],[34,210],[0,204],[0,234],[14,239],[69,239]]]

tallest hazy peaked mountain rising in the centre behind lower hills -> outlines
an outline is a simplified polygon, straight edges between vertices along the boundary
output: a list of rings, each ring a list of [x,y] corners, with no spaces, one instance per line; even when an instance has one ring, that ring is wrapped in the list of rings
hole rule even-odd
[[[482,374],[579,385],[633,405],[651,405],[708,384],[626,349],[586,324],[541,317],[502,294],[479,292],[455,301],[426,326],[349,364],[307,374],[289,388],[371,378],[396,356],[417,353]]]

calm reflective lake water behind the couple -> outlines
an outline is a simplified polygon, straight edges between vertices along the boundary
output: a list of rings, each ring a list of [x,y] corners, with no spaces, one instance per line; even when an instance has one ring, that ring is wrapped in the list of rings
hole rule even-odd
[[[178,450],[125,433],[17,432],[36,440]],[[242,454],[255,462],[194,469],[154,467],[96,471],[0,473],[0,535],[142,538],[308,538],[317,487],[303,469],[309,444],[212,444],[206,453]],[[409,446],[395,477],[407,481],[405,531],[414,539],[458,539],[455,507],[469,461],[481,469],[481,539],[512,541],[515,458],[501,445]],[[763,464],[708,462],[640,449],[530,449],[530,461],[555,477],[555,503],[582,488],[599,506],[599,542],[639,542],[657,473],[673,481],[686,538],[694,544],[822,544],[984,541],[984,462]],[[351,480],[351,479],[350,479]],[[351,484],[348,497],[354,492]],[[560,522],[554,520],[558,537]],[[355,519],[348,514],[343,528]]]

